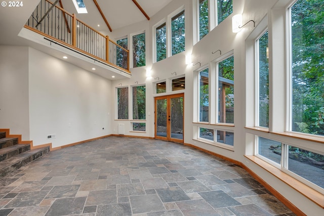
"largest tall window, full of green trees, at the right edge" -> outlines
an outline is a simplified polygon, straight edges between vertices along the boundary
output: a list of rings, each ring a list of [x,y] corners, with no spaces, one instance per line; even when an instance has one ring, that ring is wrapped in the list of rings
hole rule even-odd
[[[324,2],[299,0],[291,8],[294,132],[324,136]]]

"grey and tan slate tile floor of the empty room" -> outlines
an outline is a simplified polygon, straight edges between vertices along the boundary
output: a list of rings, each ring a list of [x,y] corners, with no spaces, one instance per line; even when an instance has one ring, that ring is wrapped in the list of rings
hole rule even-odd
[[[0,215],[295,215],[244,169],[191,147],[108,137],[0,180]]]

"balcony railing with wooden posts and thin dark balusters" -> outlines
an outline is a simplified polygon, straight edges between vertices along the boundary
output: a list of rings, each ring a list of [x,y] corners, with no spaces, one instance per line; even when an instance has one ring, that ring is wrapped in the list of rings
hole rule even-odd
[[[48,0],[37,5],[25,27],[130,73],[127,49]]]

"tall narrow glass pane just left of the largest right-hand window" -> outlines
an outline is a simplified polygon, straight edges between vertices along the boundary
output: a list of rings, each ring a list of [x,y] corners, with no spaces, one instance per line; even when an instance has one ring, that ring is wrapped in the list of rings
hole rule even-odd
[[[269,57],[268,31],[258,40],[259,44],[259,125],[269,127]]]

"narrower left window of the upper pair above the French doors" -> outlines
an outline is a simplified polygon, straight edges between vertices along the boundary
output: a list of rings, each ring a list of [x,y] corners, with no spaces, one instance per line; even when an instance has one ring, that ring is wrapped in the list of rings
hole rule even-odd
[[[156,61],[167,58],[167,26],[166,23],[158,26],[155,30],[156,35]]]

